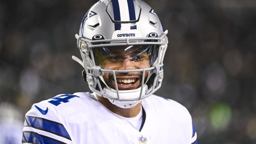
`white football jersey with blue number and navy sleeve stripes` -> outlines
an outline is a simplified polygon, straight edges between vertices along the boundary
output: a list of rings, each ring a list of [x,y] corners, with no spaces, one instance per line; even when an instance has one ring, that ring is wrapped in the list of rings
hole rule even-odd
[[[38,144],[196,144],[187,109],[151,95],[140,131],[106,109],[90,93],[58,95],[33,104],[25,116],[22,143]]]

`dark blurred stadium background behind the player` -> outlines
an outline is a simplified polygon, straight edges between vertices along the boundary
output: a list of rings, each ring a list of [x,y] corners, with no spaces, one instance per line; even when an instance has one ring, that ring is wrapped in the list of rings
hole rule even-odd
[[[97,0],[0,1],[0,143],[21,142],[25,113],[89,91],[75,34]],[[256,1],[145,0],[169,30],[156,94],[185,105],[200,144],[256,143]]]

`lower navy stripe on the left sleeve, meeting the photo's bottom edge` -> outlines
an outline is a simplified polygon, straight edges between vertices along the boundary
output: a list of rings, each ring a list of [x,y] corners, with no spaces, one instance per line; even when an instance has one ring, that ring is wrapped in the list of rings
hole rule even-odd
[[[36,132],[23,131],[22,143],[34,143],[34,144],[66,144],[54,138],[39,135]]]

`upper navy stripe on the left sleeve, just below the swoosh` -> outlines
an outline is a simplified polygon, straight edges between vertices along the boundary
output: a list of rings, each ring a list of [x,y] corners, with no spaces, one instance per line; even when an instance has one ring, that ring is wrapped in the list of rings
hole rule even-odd
[[[33,127],[71,140],[62,124],[44,118],[26,115],[24,127]]]

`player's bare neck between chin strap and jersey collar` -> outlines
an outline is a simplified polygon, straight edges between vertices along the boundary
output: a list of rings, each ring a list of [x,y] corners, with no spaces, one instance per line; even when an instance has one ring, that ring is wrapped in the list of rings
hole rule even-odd
[[[125,109],[125,108],[120,108],[120,107],[112,104],[111,102],[109,102],[108,99],[106,99],[104,97],[100,97],[98,95],[96,95],[96,96],[97,96],[97,99],[99,100],[99,102],[101,102],[107,109],[109,109],[111,112],[118,114],[120,116],[135,117],[140,113],[141,102],[132,108]]]

